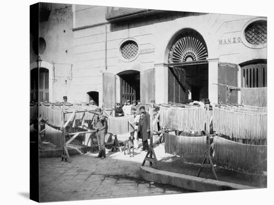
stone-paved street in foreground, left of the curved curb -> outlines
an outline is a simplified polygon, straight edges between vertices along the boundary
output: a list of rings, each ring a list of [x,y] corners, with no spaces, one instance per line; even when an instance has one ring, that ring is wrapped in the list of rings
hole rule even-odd
[[[107,158],[97,153],[61,158],[42,158],[39,164],[40,202],[91,200],[193,192],[144,181],[139,168],[146,152],[130,157],[108,150]],[[148,164],[148,162],[146,162]]]

